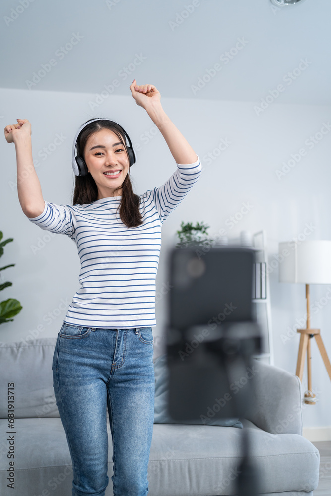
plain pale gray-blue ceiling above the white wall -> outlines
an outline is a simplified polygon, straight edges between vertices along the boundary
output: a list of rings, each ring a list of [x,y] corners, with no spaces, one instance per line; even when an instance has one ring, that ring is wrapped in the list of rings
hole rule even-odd
[[[2,0],[0,10],[2,88],[105,98],[129,95],[135,78],[165,97],[331,104],[330,0],[283,8],[270,0]]]

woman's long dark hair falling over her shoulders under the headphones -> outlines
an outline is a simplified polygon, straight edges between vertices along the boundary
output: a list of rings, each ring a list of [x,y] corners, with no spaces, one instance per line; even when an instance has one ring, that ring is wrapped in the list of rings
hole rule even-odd
[[[92,119],[89,119],[86,122],[91,120]],[[129,160],[126,139],[122,128],[118,124],[113,124],[107,120],[94,121],[84,127],[77,138],[77,155],[85,159],[84,152],[87,140],[91,134],[99,131],[100,129],[110,129],[116,134],[119,140],[123,143]],[[92,203],[95,201],[98,197],[98,187],[92,177],[92,174],[87,174],[86,176],[75,176],[75,178],[72,204],[83,205],[84,203]],[[142,224],[142,218],[139,211],[140,197],[133,192],[129,172],[126,175],[122,185],[116,188],[114,193],[120,188],[122,188],[122,198],[119,209],[122,222],[127,227],[140,226],[140,224]]]

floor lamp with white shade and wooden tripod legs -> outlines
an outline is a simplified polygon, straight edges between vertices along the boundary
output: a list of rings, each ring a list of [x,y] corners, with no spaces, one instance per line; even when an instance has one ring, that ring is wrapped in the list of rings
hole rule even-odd
[[[310,349],[310,340],[312,338],[315,338],[330,380],[331,365],[321,338],[320,329],[310,327],[309,285],[331,284],[331,241],[310,240],[303,241],[300,244],[293,241],[279,243],[279,255],[283,257],[279,264],[279,282],[303,283],[306,285],[307,324],[305,329],[297,329],[297,332],[300,333],[300,344],[296,375],[302,380],[305,355],[307,354],[308,391],[305,392],[304,401],[312,405],[317,400],[315,394],[312,393]]]

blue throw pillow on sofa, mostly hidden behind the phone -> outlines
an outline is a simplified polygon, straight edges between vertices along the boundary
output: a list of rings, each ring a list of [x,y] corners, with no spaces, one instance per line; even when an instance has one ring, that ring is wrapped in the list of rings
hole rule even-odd
[[[155,424],[208,424],[211,426],[239,427],[243,425],[239,419],[214,419],[209,418],[194,420],[173,420],[168,412],[168,368],[167,354],[159,356],[154,362],[155,373],[155,400],[154,400],[154,423]]]

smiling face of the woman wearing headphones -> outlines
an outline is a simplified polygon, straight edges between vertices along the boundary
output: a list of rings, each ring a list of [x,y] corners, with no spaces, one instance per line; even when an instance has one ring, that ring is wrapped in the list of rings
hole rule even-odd
[[[84,158],[98,187],[97,200],[114,196],[129,171],[128,155],[118,136],[110,129],[95,132],[86,142]],[[121,194],[122,189],[116,191],[116,196]]]

